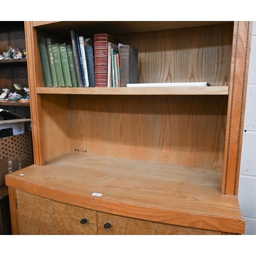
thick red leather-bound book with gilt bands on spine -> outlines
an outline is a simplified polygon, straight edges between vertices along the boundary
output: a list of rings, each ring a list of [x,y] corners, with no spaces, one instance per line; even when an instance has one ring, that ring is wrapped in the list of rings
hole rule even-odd
[[[108,84],[108,42],[118,45],[121,41],[109,34],[94,35],[94,73],[95,87],[107,87]]]

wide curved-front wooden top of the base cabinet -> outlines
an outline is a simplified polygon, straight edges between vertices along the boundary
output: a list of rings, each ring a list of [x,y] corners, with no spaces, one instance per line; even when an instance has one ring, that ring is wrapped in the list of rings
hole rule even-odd
[[[45,166],[31,165],[6,176],[10,187],[63,203],[149,221],[243,233],[245,221],[238,198],[221,195],[221,182],[220,170],[86,153],[68,154]]]

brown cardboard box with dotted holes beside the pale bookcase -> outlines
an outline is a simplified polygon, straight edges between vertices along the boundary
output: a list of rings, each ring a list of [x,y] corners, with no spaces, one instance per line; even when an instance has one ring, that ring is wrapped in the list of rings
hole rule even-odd
[[[0,186],[5,184],[5,176],[15,170],[34,163],[32,134],[0,138]]]

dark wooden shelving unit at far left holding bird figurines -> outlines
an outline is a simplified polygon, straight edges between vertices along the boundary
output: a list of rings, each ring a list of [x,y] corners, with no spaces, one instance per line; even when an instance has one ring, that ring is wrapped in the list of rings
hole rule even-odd
[[[26,49],[24,22],[0,22],[0,53],[7,52],[9,46]],[[14,83],[29,87],[27,59],[0,59],[0,94],[7,88],[16,91]],[[0,108],[30,118],[30,103],[17,101],[0,101]]]

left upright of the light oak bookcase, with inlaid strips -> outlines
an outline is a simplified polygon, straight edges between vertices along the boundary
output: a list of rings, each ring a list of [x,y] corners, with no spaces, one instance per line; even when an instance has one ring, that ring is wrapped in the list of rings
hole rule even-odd
[[[33,28],[33,22],[25,22],[25,35],[26,35],[26,48],[27,48],[27,63],[28,63],[28,81],[30,90],[30,112],[31,112],[31,124],[33,135],[33,152],[34,163],[36,165],[44,165],[44,150],[42,150],[42,125],[41,125],[41,104],[40,97],[36,94],[36,87],[40,85],[44,80],[39,80],[39,50],[37,47],[36,30]],[[43,84],[41,84],[43,86]]]

